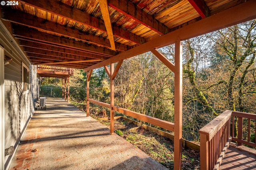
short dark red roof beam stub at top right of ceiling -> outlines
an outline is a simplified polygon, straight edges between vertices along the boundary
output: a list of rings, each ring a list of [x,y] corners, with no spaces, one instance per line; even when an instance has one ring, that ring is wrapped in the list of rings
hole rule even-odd
[[[204,0],[188,0],[198,14],[204,19],[210,16],[210,10]]]

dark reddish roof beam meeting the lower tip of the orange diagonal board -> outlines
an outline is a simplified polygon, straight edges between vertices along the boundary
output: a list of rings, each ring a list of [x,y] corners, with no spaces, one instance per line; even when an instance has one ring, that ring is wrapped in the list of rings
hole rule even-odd
[[[95,54],[104,54],[108,56],[116,55],[115,51],[106,49],[104,47],[98,47],[96,45],[89,45],[88,43],[82,43],[81,41],[75,41],[73,39],[68,39],[64,37],[59,37],[56,35],[51,35],[41,31],[36,31],[28,27],[21,27],[17,25],[12,25],[14,29],[13,35],[18,35],[21,37],[26,37],[30,39],[40,40],[44,42],[50,42],[58,45],[64,45],[66,47],[72,47],[76,49],[83,49],[85,51],[90,51]]]

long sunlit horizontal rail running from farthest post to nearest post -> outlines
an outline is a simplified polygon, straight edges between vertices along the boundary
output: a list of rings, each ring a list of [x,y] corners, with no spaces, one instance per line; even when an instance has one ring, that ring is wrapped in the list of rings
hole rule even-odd
[[[93,99],[88,99],[88,101],[92,102],[94,104],[98,104],[100,106],[110,108],[110,104],[99,102],[99,101],[93,100]],[[164,120],[161,120],[161,119],[158,119],[158,118],[155,118],[155,117],[144,115],[142,113],[137,113],[135,111],[130,111],[130,110],[127,110],[127,109],[124,109],[124,108],[121,108],[121,107],[117,107],[117,106],[113,106],[112,109],[114,111],[118,111],[118,112],[123,113],[125,115],[128,115],[128,116],[134,117],[136,119],[139,119],[141,121],[144,121],[144,122],[150,123],[152,125],[164,128],[166,130],[174,131],[174,123],[172,123],[172,122],[164,121]]]

